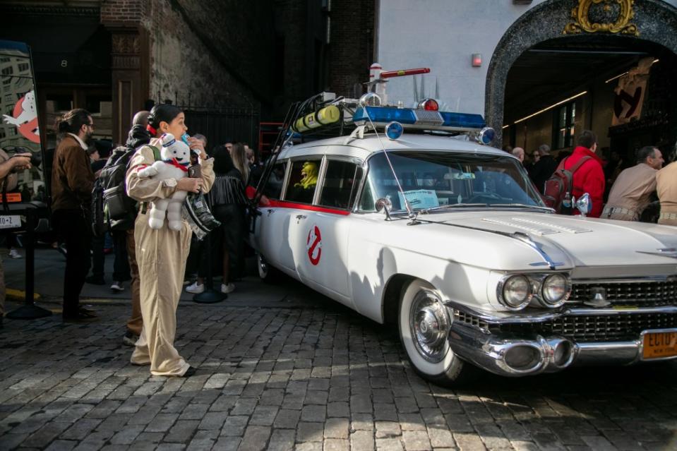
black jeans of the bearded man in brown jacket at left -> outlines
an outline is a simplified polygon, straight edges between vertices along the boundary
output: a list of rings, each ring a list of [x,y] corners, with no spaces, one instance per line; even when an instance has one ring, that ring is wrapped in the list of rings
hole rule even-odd
[[[80,308],[80,291],[90,267],[90,227],[81,210],[56,210],[52,222],[59,239],[66,244],[64,316],[74,316]]]

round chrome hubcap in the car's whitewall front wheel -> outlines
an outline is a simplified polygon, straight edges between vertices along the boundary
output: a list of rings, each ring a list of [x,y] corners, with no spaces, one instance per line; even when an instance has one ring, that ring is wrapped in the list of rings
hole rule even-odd
[[[431,291],[419,291],[409,312],[412,339],[419,354],[437,363],[445,354],[449,320],[445,306]]]

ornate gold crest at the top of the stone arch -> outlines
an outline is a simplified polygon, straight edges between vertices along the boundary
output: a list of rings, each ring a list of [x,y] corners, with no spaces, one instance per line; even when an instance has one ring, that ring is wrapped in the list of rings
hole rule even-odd
[[[604,4],[605,11],[611,11],[611,4],[618,4],[621,8],[618,11],[616,22],[613,23],[591,23],[589,19],[590,7],[594,4]],[[635,0],[578,0],[578,6],[571,10],[573,22],[564,27],[563,34],[575,35],[581,32],[588,33],[622,33],[623,35],[640,35],[637,25],[630,23],[635,16],[633,10]]]

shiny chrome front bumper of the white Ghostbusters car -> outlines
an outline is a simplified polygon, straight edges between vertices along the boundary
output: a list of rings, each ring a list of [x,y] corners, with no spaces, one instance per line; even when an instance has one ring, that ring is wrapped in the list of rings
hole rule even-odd
[[[449,304],[448,307],[452,308]],[[501,318],[499,321],[505,322],[507,319]],[[461,359],[486,371],[505,376],[522,376],[553,373],[569,366],[623,366],[639,363],[644,361],[642,356],[645,332],[631,341],[579,343],[561,336],[501,336],[482,327],[454,321],[450,328],[449,342]],[[655,329],[650,332],[677,332],[677,328]],[[676,358],[677,356],[651,361]],[[515,362],[520,364],[515,365]]]

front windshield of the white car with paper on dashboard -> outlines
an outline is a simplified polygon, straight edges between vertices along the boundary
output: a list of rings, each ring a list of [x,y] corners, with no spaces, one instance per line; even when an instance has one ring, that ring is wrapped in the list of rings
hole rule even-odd
[[[525,169],[508,155],[419,150],[388,152],[388,156],[414,210],[467,204],[544,207]],[[374,211],[378,198],[390,199],[393,211],[406,210],[383,152],[369,160],[360,210]]]

